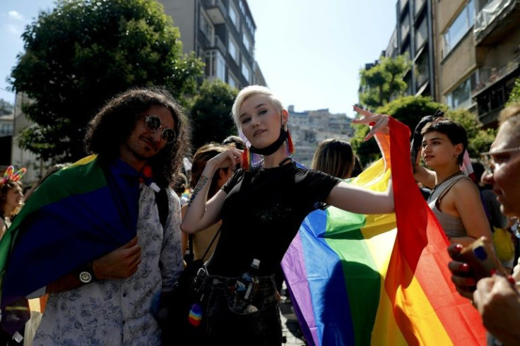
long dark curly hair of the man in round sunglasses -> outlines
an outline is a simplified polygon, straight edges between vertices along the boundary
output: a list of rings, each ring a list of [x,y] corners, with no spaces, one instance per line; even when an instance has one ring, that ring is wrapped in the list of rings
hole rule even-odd
[[[108,164],[119,157],[119,146],[136,127],[150,107],[165,107],[175,120],[175,141],[148,160],[157,183],[169,186],[179,172],[182,158],[189,152],[189,121],[174,97],[162,88],[133,88],[116,95],[90,121],[85,149],[98,154]]]

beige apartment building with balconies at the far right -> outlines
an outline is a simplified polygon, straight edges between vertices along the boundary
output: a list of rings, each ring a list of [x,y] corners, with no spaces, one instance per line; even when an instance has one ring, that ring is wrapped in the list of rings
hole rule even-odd
[[[520,77],[520,0],[439,0],[435,4],[436,99],[471,109],[497,126]]]

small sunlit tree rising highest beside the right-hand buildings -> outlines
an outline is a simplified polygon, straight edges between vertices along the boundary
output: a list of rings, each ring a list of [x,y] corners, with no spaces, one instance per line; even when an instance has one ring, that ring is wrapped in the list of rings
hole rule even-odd
[[[408,56],[400,55],[396,58],[382,56],[376,66],[361,69],[361,103],[375,109],[402,95],[407,88],[403,77],[410,67]]]

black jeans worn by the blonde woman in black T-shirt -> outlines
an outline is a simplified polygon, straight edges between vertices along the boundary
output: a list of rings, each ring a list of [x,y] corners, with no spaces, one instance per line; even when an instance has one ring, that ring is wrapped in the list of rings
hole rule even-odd
[[[209,275],[206,281],[206,328],[211,345],[281,345],[274,275],[259,278],[259,290],[252,301],[258,311],[244,314],[230,310],[236,281],[217,275]]]

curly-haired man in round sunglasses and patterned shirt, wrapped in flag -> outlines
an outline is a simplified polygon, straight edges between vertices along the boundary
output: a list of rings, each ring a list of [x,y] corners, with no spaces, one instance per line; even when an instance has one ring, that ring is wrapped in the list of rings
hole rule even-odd
[[[165,90],[128,90],[90,121],[85,143],[94,155],[53,174],[35,191],[28,203],[67,189],[61,186],[71,189],[50,207],[26,205],[29,212],[37,210],[21,217],[30,225],[22,220],[14,227],[23,232],[13,241],[11,266],[32,253],[52,252],[49,261],[30,263],[39,269],[27,287],[10,288],[19,278],[9,273],[23,264],[8,267],[4,277],[2,304],[9,292],[49,293],[33,345],[160,344],[150,306],[182,271],[180,203],[169,186],[187,152],[187,127],[181,107]],[[85,187],[90,185],[96,188]],[[54,236],[61,229],[65,235]],[[38,232],[45,239],[24,241]],[[18,250],[26,243],[34,249]],[[49,269],[52,263],[59,263],[55,270]]]

